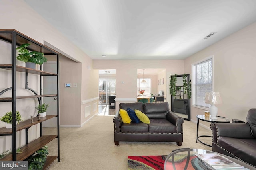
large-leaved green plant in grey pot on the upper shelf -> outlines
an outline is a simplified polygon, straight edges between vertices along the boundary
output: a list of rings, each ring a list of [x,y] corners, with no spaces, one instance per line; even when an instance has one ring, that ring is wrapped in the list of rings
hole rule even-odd
[[[28,51],[27,47],[30,44],[22,44],[20,47],[17,47],[16,50],[20,54],[17,55],[17,60],[24,62],[32,62],[39,65],[42,65],[44,62],[47,62],[47,59],[44,57],[44,53],[38,51]]]

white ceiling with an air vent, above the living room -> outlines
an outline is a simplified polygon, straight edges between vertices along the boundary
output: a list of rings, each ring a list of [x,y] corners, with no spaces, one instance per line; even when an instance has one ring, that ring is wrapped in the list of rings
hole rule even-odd
[[[185,59],[256,21],[256,0],[24,1],[92,59]]]

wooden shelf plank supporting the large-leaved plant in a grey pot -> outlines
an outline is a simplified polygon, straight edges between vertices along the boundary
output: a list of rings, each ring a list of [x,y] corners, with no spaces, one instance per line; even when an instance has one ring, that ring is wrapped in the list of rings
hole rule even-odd
[[[6,69],[6,70],[12,70],[12,64],[1,64],[0,68]],[[16,66],[16,71],[18,71],[18,72],[28,72],[30,74],[38,74],[38,75],[43,75],[43,76],[57,76],[57,74],[55,74],[55,73],[36,70],[36,69],[22,67],[22,66]]]

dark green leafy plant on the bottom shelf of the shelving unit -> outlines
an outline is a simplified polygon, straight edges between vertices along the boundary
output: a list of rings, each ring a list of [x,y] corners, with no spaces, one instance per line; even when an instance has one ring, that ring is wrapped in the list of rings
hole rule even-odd
[[[28,170],[42,170],[48,154],[48,146],[37,150],[28,158]]]

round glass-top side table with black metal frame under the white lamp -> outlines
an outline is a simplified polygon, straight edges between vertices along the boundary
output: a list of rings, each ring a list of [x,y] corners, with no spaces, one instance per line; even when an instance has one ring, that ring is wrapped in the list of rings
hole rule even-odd
[[[212,147],[211,145],[208,145],[202,141],[200,141],[200,137],[212,137],[212,136],[208,136],[208,135],[201,135],[198,136],[198,129],[199,129],[199,120],[201,121],[207,121],[207,122],[211,122],[211,123],[230,123],[230,120],[227,119],[226,117],[221,117],[221,116],[216,116],[218,119],[211,119],[210,117],[205,117],[204,115],[196,115],[196,122],[197,122],[197,128],[196,128],[196,143],[197,141],[199,141],[200,143],[208,146],[208,147]]]

